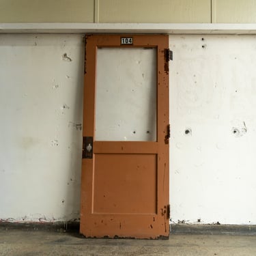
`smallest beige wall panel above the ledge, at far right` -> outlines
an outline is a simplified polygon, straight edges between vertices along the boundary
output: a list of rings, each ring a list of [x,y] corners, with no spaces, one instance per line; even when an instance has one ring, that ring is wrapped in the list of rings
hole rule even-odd
[[[256,23],[255,0],[213,0],[213,23]]]

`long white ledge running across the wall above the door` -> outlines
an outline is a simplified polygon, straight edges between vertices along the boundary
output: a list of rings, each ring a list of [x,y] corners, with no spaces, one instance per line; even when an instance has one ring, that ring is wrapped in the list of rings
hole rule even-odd
[[[0,23],[0,33],[256,34],[256,23]]]

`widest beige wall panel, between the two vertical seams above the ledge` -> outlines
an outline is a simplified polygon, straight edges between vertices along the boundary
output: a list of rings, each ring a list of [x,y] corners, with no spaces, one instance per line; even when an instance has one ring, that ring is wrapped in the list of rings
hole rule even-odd
[[[210,23],[210,0],[99,0],[100,23]]]

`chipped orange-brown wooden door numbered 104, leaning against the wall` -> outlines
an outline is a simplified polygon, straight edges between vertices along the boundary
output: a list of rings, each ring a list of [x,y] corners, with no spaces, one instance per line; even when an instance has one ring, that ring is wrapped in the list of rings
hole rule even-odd
[[[87,35],[86,237],[169,237],[168,47],[167,35]]]

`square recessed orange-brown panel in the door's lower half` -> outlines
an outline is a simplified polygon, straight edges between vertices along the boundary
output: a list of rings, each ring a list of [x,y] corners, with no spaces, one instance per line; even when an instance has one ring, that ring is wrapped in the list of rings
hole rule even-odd
[[[96,154],[93,212],[156,214],[155,154]]]

